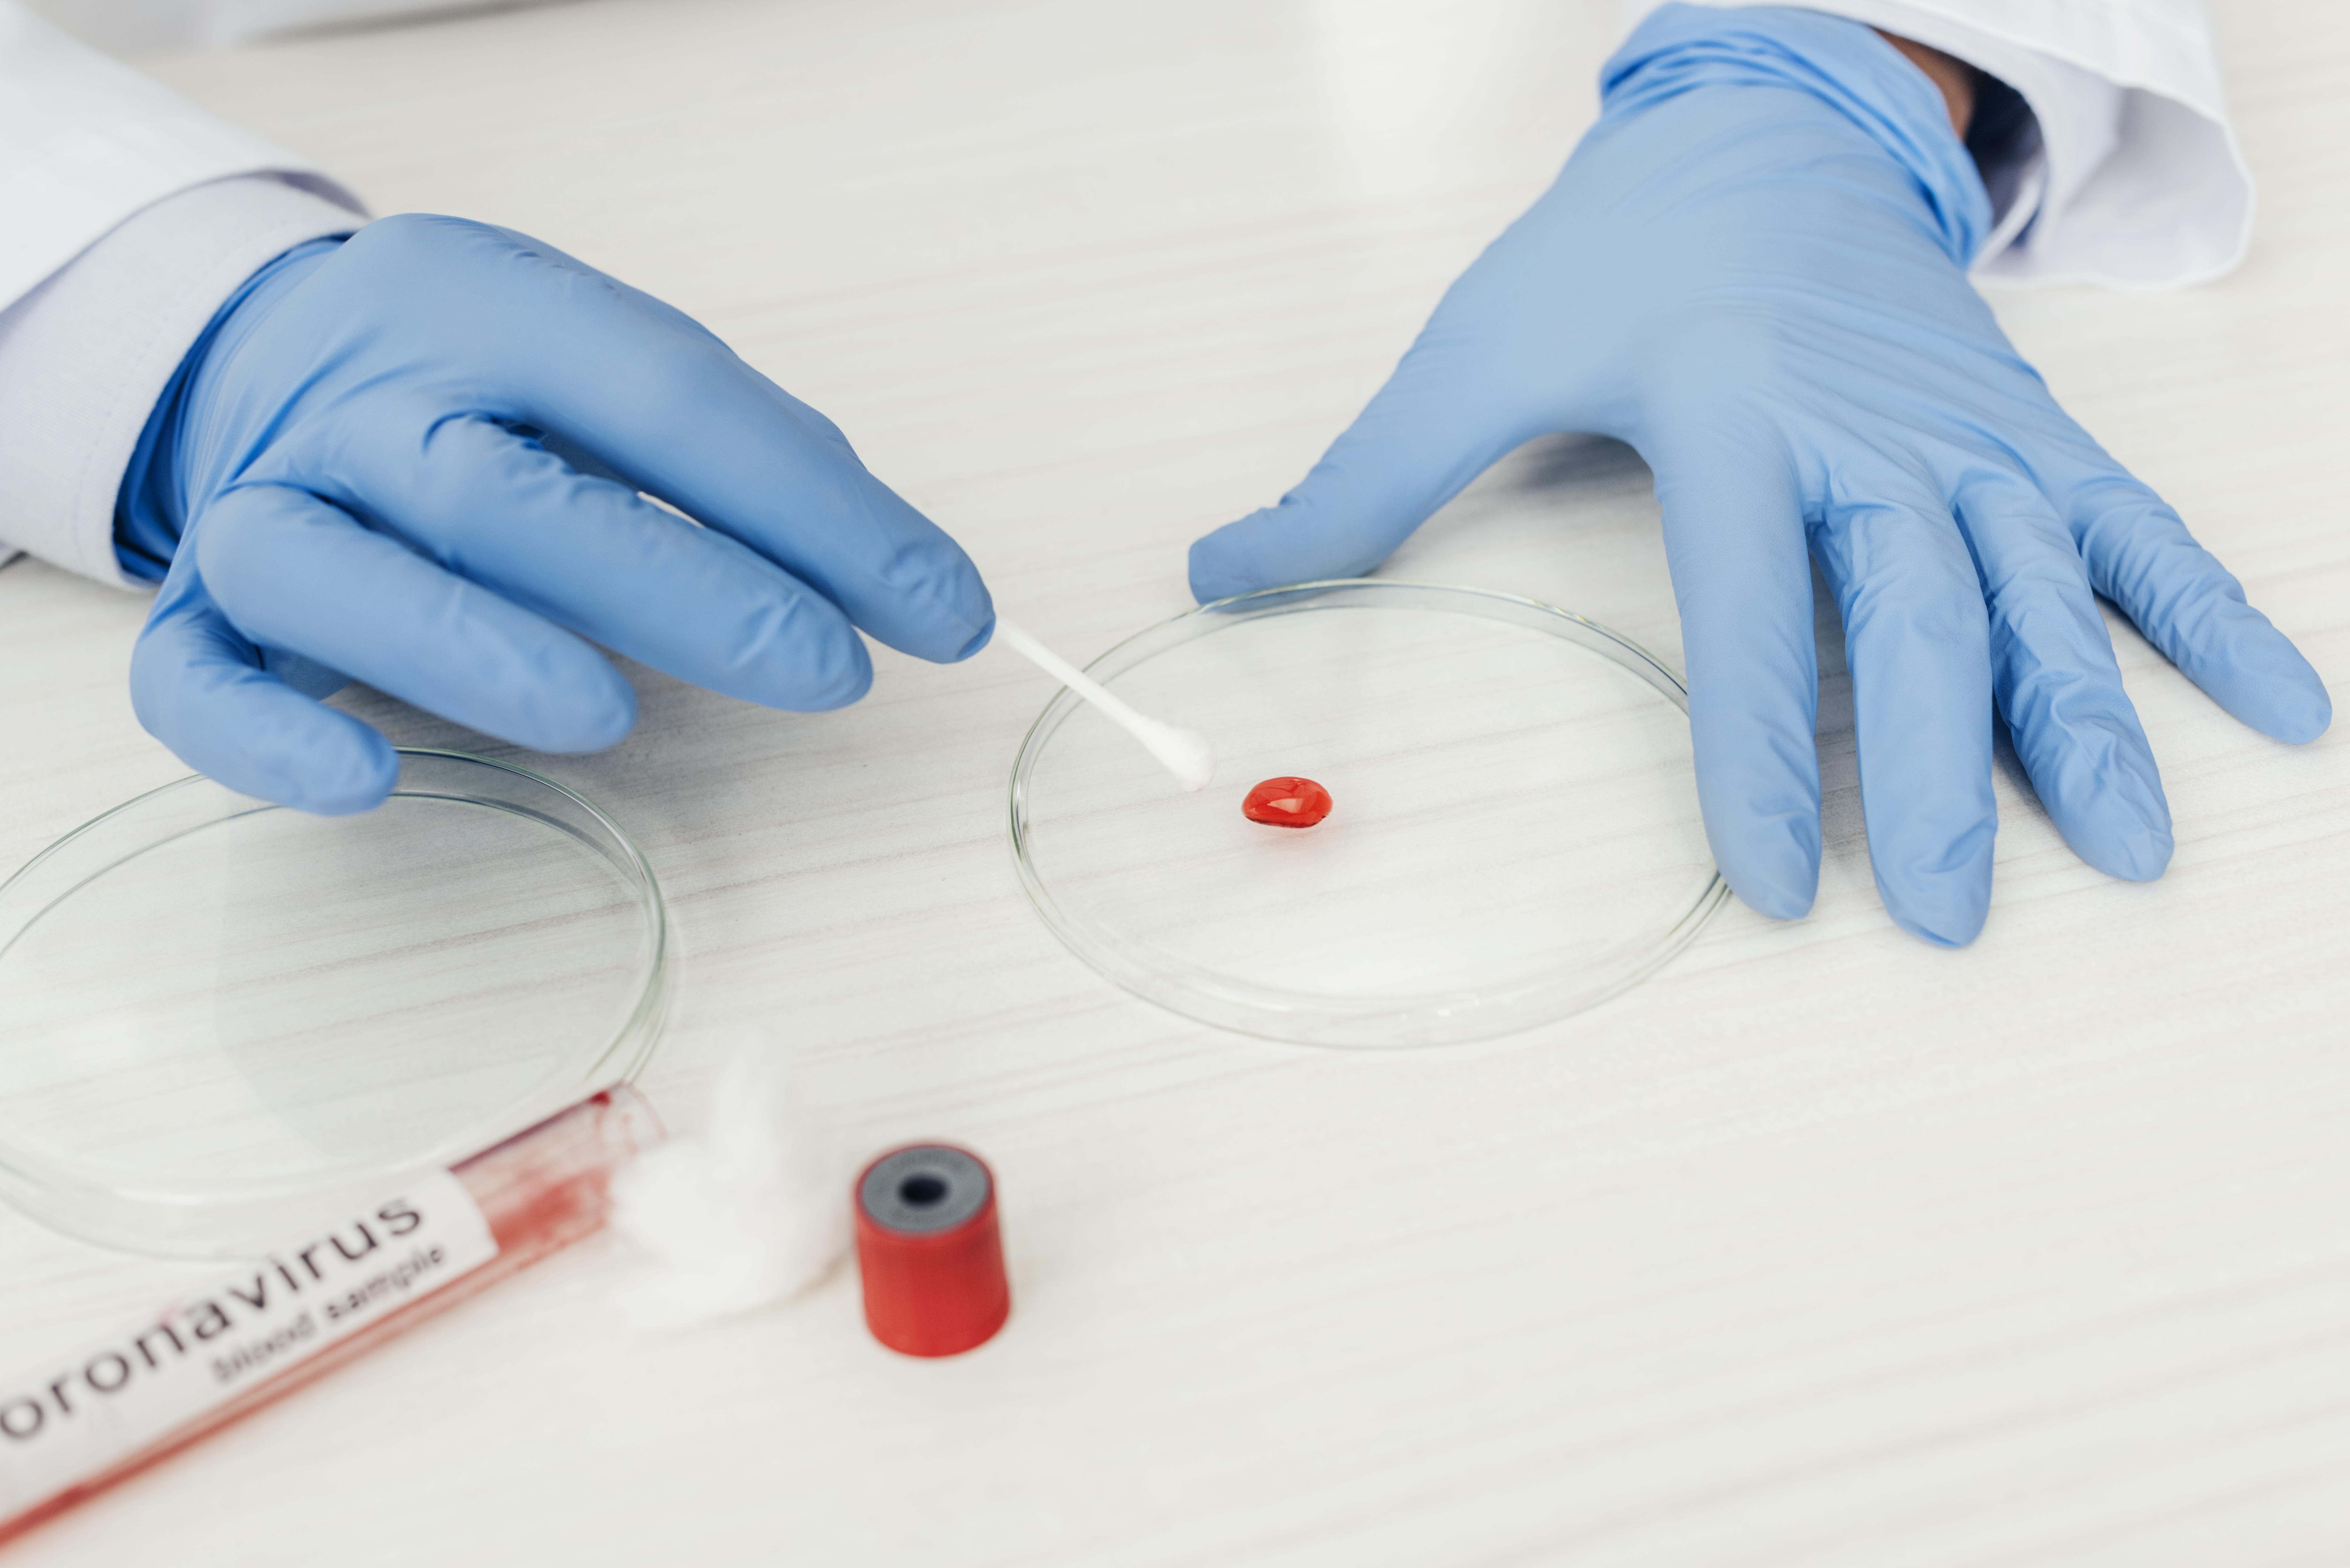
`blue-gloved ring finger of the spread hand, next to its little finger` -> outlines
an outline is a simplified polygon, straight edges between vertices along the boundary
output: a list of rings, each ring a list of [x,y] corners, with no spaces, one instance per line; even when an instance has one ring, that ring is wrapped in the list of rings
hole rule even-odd
[[[2108,877],[2160,877],[2171,809],[2073,536],[2019,477],[1967,482],[1958,515],[1990,609],[1993,691],[2040,804]]]

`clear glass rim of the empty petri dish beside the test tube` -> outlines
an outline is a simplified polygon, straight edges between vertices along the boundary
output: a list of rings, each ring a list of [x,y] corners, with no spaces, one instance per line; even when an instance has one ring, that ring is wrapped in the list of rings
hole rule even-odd
[[[449,764],[456,769],[486,769],[491,773],[512,776],[536,790],[548,790],[550,795],[566,802],[580,816],[585,816],[597,830],[602,830],[604,842],[578,832],[571,823],[552,818],[540,811],[529,811],[515,802],[491,799],[486,795],[468,795],[446,788],[407,788],[404,780],[392,788],[395,799],[444,799],[468,806],[479,806],[486,811],[498,811],[505,816],[519,816],[562,832],[573,844],[592,851],[606,865],[611,865],[623,884],[634,893],[637,912],[646,926],[646,959],[644,978],[637,987],[637,999],[630,1006],[627,1018],[613,1030],[611,1039],[588,1060],[585,1070],[559,1067],[548,1079],[540,1079],[531,1088],[531,1095],[552,1098],[557,1091],[557,1079],[569,1077],[562,1084],[564,1091],[576,1088],[578,1095],[588,1095],[597,1088],[611,1084],[634,1081],[644,1065],[653,1056],[653,1046],[660,1041],[660,1030],[667,1020],[670,990],[672,990],[672,964],[670,964],[670,912],[667,900],[660,893],[660,879],[653,875],[651,860],[637,846],[627,830],[620,827],[602,806],[580,792],[555,783],[543,773],[517,766],[512,762],[498,762],[496,757],[475,757],[472,752],[456,752],[428,745],[400,745],[392,748],[395,755],[407,759],[421,759],[428,764]],[[176,795],[186,795],[200,788],[214,788],[230,799],[249,802],[242,809],[219,811],[200,823],[181,827],[162,837],[141,842],[127,853],[115,853],[106,858],[103,865],[94,870],[75,867],[70,875],[70,886],[61,893],[40,903],[31,914],[16,914],[12,910],[14,898],[24,893],[33,879],[52,870],[56,863],[66,860],[80,849],[87,849],[99,835],[122,823],[136,820],[141,813],[169,802]],[[0,882],[0,959],[7,957],[9,947],[16,945],[33,926],[38,926],[56,905],[73,898],[78,891],[92,882],[120,870],[122,865],[146,856],[150,851],[176,844],[195,832],[209,827],[221,827],[226,823],[244,820],[249,816],[261,816],[268,811],[287,811],[289,806],[277,806],[273,802],[261,802],[251,797],[237,797],[226,785],[207,778],[204,773],[188,773],[174,778],[172,783],[134,795],[118,806],[108,806],[99,816],[89,818],[73,832],[66,832],[47,849],[35,853],[31,860],[19,865],[5,882]],[[103,851],[101,851],[103,853]],[[576,1098],[578,1098],[576,1095]],[[132,1246],[136,1251],[160,1251],[176,1255],[214,1255],[212,1248],[183,1248],[172,1244],[169,1237],[143,1234],[150,1225],[141,1220],[153,1220],[167,1211],[237,1211],[237,1208],[261,1208],[268,1204],[301,1201],[310,1194],[324,1194],[331,1185],[334,1194],[343,1190],[360,1192],[374,1190],[378,1185],[392,1185],[407,1175],[425,1168],[437,1168],[454,1164],[482,1147],[519,1131],[536,1114],[559,1110],[559,1105],[545,1105],[538,1110],[519,1110],[522,1098],[517,1098],[517,1110],[501,1112],[494,1117],[482,1117],[475,1124],[451,1128],[428,1150],[418,1150],[411,1157],[397,1161],[381,1161],[371,1166],[348,1166],[336,1171],[327,1182],[303,1180],[303,1178],[261,1178],[261,1180],[221,1180],[207,1178],[200,1192],[186,1190],[155,1190],[139,1182],[125,1182],[106,1173],[99,1161],[82,1161],[70,1154],[40,1152],[35,1159],[19,1154],[5,1138],[0,1138],[0,1199],[5,1199],[19,1213],[26,1213],[45,1225],[52,1225],[66,1234],[94,1239],[108,1246]]]

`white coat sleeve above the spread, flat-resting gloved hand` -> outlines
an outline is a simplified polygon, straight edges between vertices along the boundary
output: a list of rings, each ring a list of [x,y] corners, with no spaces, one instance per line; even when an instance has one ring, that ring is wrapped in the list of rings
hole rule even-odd
[[[2176,289],[2244,259],[2251,172],[2202,0],[1802,2],[1953,54],[2023,94],[2037,136],[2016,148],[2019,167],[1986,169],[2002,209],[1976,277]],[[1626,9],[1638,21],[1657,5]]]

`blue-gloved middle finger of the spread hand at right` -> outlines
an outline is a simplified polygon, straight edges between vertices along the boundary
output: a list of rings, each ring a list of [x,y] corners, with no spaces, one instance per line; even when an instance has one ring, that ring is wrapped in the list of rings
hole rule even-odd
[[[1990,912],[1990,625],[1948,508],[1906,475],[1854,477],[1819,557],[1845,616],[1868,860],[1911,936],[1962,947]]]

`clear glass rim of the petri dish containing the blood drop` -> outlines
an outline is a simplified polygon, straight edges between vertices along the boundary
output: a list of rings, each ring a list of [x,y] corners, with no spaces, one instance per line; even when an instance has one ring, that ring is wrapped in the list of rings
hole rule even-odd
[[[1591,616],[1490,588],[1408,578],[1323,578],[1213,599],[1112,644],[1086,665],[1086,675],[1107,686],[1147,658],[1248,621],[1370,604],[1469,614],[1544,630],[1631,670],[1683,715],[1690,710],[1690,689],[1671,665]],[[1483,992],[1332,997],[1220,976],[1170,954],[1144,957],[1067,910],[1046,886],[1032,851],[1029,790],[1036,764],[1053,733],[1081,705],[1081,698],[1067,686],[1053,693],[1053,701],[1029,724],[1020,741],[1020,755],[1013,759],[1008,825],[1020,886],[1046,929],[1100,976],[1144,1001],[1222,1030],[1283,1044],[1349,1048],[1410,1048],[1518,1034],[1598,1006],[1657,973],[1697,938],[1730,898],[1730,884],[1716,867],[1697,900],[1671,926],[1654,933],[1638,961],[1598,973],[1546,973]]]

